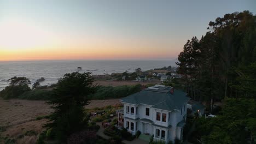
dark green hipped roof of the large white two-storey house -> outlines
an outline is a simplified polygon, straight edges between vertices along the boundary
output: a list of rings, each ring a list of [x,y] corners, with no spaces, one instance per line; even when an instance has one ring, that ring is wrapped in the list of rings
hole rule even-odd
[[[172,111],[180,110],[189,99],[185,92],[174,89],[174,93],[171,94],[170,87],[154,87],[129,95],[121,99],[121,102],[152,105],[156,109]]]

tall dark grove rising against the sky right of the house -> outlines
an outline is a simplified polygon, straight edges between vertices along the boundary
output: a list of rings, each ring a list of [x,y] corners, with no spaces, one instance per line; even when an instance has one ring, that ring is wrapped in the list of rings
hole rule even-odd
[[[238,71],[256,61],[256,16],[249,11],[225,14],[211,21],[208,29],[200,40],[193,37],[184,45],[177,71],[189,96],[206,101],[210,108],[214,100],[244,96],[237,93],[237,85],[245,85],[242,81],[248,77]]]

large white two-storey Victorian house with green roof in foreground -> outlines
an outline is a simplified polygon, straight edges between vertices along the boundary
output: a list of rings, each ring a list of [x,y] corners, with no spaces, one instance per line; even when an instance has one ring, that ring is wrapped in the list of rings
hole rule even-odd
[[[138,130],[142,135],[154,135],[155,141],[182,140],[189,100],[187,93],[174,88],[148,87],[120,100],[124,104],[120,125],[133,135]]]

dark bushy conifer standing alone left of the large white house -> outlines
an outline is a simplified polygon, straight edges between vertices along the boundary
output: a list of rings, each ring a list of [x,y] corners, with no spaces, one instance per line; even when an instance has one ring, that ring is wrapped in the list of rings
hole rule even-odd
[[[75,72],[65,74],[57,83],[53,98],[48,101],[48,104],[53,105],[54,112],[46,127],[53,129],[60,142],[65,141],[72,133],[86,129],[88,117],[84,106],[89,104],[88,95],[98,88],[93,82],[91,73]]]

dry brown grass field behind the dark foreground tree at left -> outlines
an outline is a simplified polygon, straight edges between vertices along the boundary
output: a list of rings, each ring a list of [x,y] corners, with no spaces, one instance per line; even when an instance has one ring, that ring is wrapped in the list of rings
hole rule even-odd
[[[119,104],[119,99],[92,100],[86,109]],[[4,139],[14,139],[15,143],[36,143],[42,126],[47,119],[37,120],[39,116],[53,111],[45,101],[40,100],[2,100],[0,99],[0,143]]]

